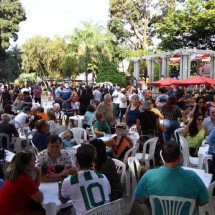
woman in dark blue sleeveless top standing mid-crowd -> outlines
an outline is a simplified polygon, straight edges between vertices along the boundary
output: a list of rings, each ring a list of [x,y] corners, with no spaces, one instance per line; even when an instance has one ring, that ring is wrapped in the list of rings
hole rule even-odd
[[[133,95],[131,97],[131,104],[128,106],[125,113],[126,126],[128,126],[128,128],[130,128],[132,125],[136,125],[140,110],[139,96]]]

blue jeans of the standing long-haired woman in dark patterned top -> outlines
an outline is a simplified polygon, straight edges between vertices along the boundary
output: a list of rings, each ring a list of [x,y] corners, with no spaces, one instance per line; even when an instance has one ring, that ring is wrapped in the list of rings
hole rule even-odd
[[[177,119],[167,120],[165,119],[163,122],[164,125],[164,139],[165,142],[171,140],[171,136],[174,137],[174,131],[180,128],[180,124]],[[175,138],[175,137],[174,137]]]

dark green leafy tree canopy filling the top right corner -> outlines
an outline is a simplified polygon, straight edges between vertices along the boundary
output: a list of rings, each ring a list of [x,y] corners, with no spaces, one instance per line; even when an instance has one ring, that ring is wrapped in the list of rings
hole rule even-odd
[[[215,49],[215,1],[188,0],[157,24],[161,48]]]

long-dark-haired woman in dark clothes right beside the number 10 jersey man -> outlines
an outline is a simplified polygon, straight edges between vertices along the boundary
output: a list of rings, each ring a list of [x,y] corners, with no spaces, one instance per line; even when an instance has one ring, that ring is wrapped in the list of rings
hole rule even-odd
[[[122,198],[120,178],[117,174],[114,161],[107,156],[105,143],[100,139],[94,139],[90,141],[90,144],[92,144],[96,149],[96,157],[94,161],[95,171],[104,174],[110,183],[111,201]]]

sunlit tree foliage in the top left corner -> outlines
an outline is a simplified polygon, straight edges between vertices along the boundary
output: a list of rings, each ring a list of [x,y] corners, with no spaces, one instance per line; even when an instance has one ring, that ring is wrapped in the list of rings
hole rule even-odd
[[[25,21],[25,10],[19,0],[0,1],[0,50],[6,50],[10,39],[18,39],[19,23]]]

